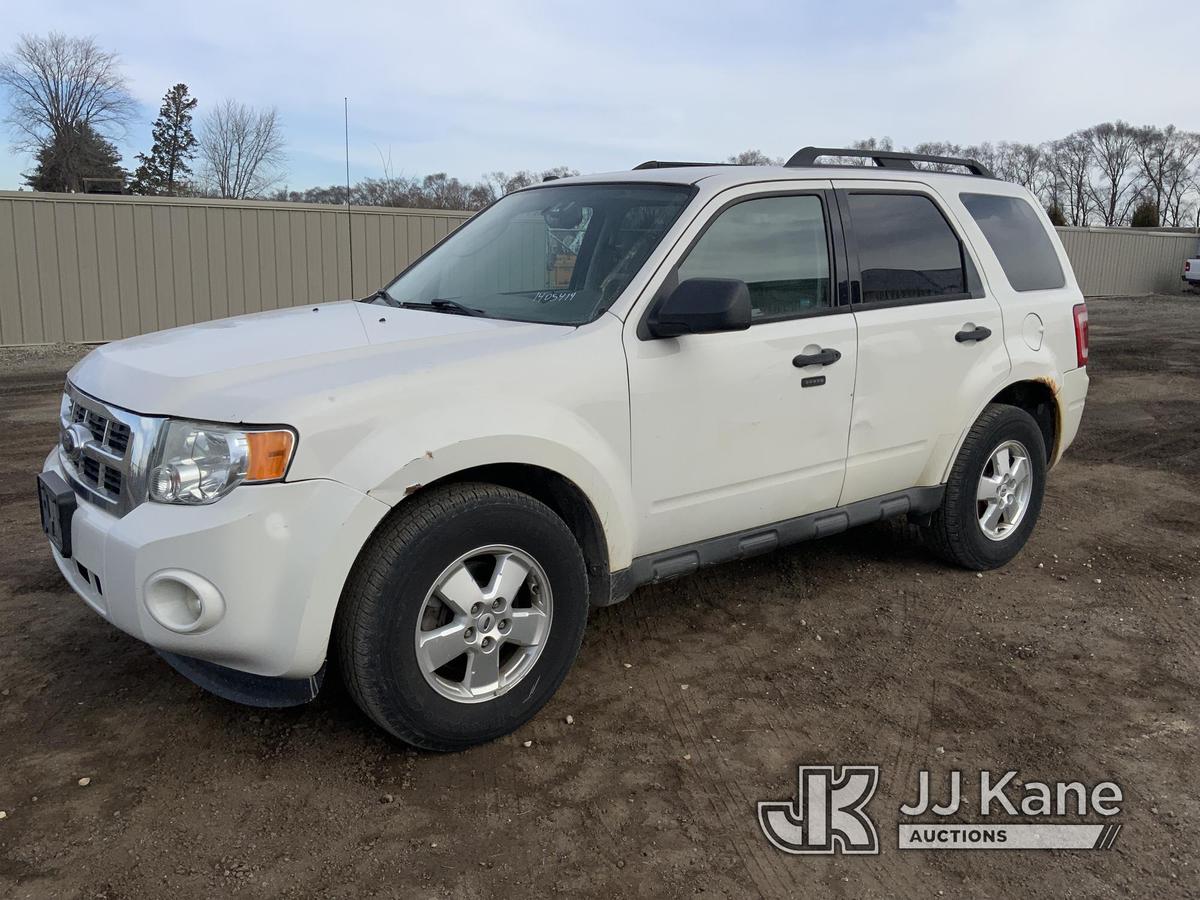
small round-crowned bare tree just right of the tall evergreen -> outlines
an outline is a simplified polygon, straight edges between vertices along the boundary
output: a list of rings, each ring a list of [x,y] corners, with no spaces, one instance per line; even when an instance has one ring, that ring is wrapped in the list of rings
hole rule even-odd
[[[204,176],[217,197],[260,197],[283,178],[278,113],[223,100],[200,125]]]

